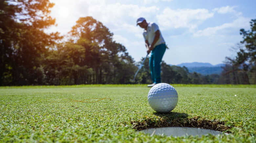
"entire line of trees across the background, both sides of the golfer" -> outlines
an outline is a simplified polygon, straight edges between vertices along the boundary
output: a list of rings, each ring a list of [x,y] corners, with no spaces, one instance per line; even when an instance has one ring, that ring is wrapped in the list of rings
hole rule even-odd
[[[143,59],[136,63],[93,17],[79,18],[65,36],[45,33],[55,24],[49,15],[53,6],[49,0],[0,1],[0,86],[152,83],[148,58],[135,82],[130,80]],[[189,73],[162,61],[162,82],[255,84],[255,20],[251,26],[252,31],[241,29],[245,46],[236,58],[226,58],[222,75]]]

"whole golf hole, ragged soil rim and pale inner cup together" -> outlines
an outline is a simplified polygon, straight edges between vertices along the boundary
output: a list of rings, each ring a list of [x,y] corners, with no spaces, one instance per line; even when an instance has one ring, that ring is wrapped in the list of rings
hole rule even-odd
[[[158,117],[144,117],[140,120],[132,120],[130,123],[137,132],[149,135],[167,136],[199,136],[202,135],[229,135],[231,128],[219,119],[204,119],[200,117],[188,118],[187,114],[171,112],[159,114]],[[169,117],[166,117],[169,116]]]

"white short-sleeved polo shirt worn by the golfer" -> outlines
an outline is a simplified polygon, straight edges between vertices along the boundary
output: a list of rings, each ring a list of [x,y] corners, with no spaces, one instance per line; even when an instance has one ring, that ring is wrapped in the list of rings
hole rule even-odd
[[[144,32],[143,32],[144,39],[148,40],[148,43],[150,45],[154,41],[154,38],[156,36],[155,32],[157,30],[159,30],[159,27],[158,27],[157,24],[155,24],[155,23],[148,23],[147,30],[144,30]],[[160,32],[160,30],[159,30],[159,32]],[[156,44],[153,47],[155,48],[157,45],[160,45],[160,44],[163,44],[163,43],[165,43],[165,42],[164,42],[164,39],[163,39],[162,34],[160,32],[160,37],[159,37],[158,41],[156,42]]]

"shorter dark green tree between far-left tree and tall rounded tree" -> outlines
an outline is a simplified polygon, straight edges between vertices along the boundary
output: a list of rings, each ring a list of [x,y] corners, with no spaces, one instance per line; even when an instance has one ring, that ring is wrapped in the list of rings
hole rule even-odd
[[[84,48],[74,43],[60,43],[49,52],[43,67],[48,85],[86,84],[92,69],[84,63]]]

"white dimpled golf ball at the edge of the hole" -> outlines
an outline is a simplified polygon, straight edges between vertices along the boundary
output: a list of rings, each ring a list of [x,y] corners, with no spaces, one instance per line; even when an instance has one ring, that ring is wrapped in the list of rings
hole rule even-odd
[[[148,103],[153,110],[159,113],[167,113],[176,107],[178,93],[169,84],[156,84],[148,92]]]

